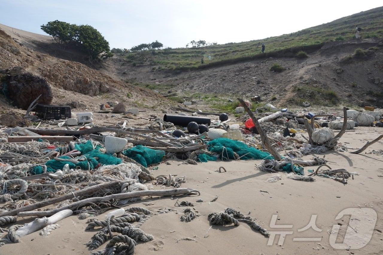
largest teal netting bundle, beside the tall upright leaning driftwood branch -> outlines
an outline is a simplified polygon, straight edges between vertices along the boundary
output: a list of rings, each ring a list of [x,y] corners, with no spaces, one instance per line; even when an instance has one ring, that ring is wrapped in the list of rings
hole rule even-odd
[[[217,138],[208,142],[210,152],[215,152],[219,155],[219,159],[228,161],[235,159],[234,152],[241,157],[241,159],[273,159],[268,152],[249,147],[243,142],[234,141],[228,138]]]

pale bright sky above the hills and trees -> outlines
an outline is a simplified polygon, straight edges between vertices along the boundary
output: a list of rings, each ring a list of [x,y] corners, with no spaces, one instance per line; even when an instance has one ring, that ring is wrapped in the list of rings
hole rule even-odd
[[[381,0],[0,0],[0,23],[45,34],[42,24],[60,20],[93,26],[111,47],[155,40],[185,47],[191,40],[222,44],[278,36],[381,5]]]

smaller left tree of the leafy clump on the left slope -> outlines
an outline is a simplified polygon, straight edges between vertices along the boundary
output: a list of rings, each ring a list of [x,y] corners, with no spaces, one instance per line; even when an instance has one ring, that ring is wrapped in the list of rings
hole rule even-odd
[[[56,43],[69,44],[75,37],[76,25],[55,20],[49,21],[46,25],[41,25],[41,29],[51,35]]]

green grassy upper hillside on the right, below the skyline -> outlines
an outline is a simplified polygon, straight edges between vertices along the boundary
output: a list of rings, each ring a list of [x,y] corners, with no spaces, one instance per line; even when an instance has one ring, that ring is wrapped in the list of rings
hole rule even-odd
[[[250,60],[265,57],[261,53],[260,44],[265,43],[266,52],[283,52],[295,47],[294,53],[300,49],[313,49],[326,41],[347,40],[355,38],[355,25],[360,26],[362,38],[383,37],[383,7],[363,11],[332,22],[303,29],[301,31],[254,40],[242,43],[227,43],[200,48],[177,48],[156,51],[153,56],[149,51],[121,54],[125,65],[159,64],[159,69],[180,70],[200,69],[213,65]],[[303,47],[303,48],[302,48]],[[211,61],[208,55],[211,55]],[[205,63],[201,65],[201,57]],[[273,56],[272,54],[270,56]],[[266,56],[267,57],[267,56]]]

